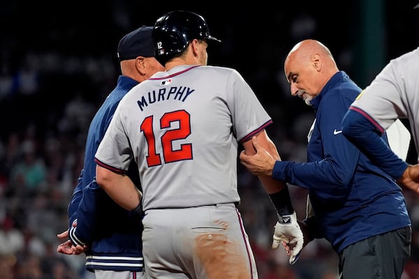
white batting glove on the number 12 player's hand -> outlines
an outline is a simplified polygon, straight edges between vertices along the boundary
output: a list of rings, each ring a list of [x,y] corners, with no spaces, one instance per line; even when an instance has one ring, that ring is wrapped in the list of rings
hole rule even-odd
[[[279,221],[275,225],[272,241],[272,249],[277,249],[281,241],[285,241],[291,247],[290,264],[295,264],[304,244],[304,237],[300,225],[297,223],[297,214],[278,216]]]

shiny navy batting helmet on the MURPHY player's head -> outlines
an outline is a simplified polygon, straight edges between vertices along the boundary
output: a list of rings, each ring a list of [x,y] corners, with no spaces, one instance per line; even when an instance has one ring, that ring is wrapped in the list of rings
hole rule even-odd
[[[156,43],[156,59],[162,65],[182,52],[193,39],[221,43],[210,35],[204,17],[185,10],[174,10],[160,17],[154,24],[152,36]]]

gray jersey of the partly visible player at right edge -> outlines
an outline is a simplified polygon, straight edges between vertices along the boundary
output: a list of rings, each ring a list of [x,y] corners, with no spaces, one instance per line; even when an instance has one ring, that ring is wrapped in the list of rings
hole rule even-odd
[[[419,47],[392,59],[353,102],[383,130],[396,119],[409,119],[419,151]]]

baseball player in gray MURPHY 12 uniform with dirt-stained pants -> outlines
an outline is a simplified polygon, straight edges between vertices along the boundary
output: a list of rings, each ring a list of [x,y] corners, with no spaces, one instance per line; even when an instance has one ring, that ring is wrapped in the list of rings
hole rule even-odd
[[[237,211],[237,148],[254,153],[256,136],[276,152],[265,132],[272,119],[236,70],[207,66],[207,45],[220,40],[202,16],[167,13],[153,36],[165,71],[119,103],[96,153],[97,183],[125,209],[145,211],[148,278],[258,278]],[[124,175],[133,160],[142,193]],[[300,250],[302,232],[286,184],[260,181],[286,223],[278,238],[291,236]]]

